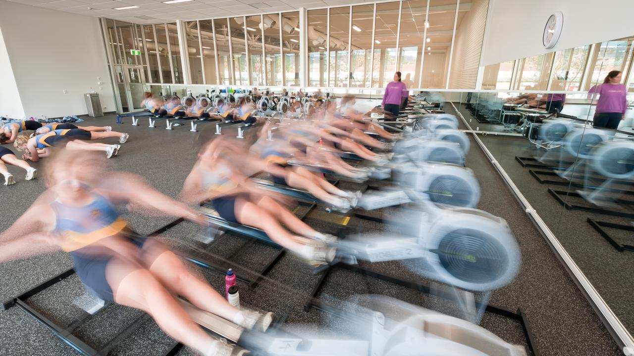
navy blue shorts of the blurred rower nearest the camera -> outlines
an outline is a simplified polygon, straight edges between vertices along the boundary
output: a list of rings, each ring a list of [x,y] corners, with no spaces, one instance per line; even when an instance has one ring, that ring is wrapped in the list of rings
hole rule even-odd
[[[135,236],[129,239],[134,245],[143,248],[147,237]],[[112,288],[106,279],[106,267],[113,257],[82,253],[82,249],[72,251],[70,256],[73,258],[75,273],[86,289],[106,302],[114,302]]]

